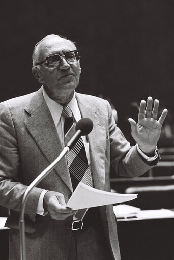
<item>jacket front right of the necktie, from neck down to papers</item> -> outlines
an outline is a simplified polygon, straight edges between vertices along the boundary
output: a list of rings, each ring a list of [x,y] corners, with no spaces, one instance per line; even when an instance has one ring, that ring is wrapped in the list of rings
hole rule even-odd
[[[76,93],[76,99],[82,117],[90,118],[94,124],[93,130],[87,136],[90,147],[91,168],[95,188],[103,190],[105,185],[105,119],[100,115],[95,104],[90,102],[90,98],[87,99],[86,96]]]

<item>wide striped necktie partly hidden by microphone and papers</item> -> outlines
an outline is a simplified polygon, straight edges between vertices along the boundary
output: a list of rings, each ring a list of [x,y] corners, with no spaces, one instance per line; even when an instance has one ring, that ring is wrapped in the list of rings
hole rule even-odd
[[[66,105],[63,107],[62,114],[65,117],[64,138],[66,144],[75,133],[75,123],[72,111],[69,106]],[[83,182],[86,185],[92,186],[88,160],[86,157],[84,143],[81,137],[72,147],[72,149],[67,153],[67,164],[70,172],[73,190],[75,190],[79,182]],[[82,220],[86,211],[86,209],[79,210],[75,216],[78,219]]]

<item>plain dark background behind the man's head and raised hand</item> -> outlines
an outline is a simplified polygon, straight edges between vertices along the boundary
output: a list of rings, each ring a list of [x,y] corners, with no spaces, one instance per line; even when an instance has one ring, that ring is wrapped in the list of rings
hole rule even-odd
[[[172,0],[11,1],[1,2],[0,10],[0,101],[39,88],[31,73],[34,45],[47,34],[60,34],[80,52],[77,91],[110,99],[128,139],[127,118],[137,113],[133,101],[158,98],[172,124]]]

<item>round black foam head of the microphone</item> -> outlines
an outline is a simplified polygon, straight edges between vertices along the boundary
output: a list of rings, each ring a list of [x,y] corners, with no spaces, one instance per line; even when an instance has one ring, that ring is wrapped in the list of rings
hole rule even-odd
[[[93,121],[89,118],[80,119],[75,127],[75,130],[81,130],[81,135],[89,134],[93,129]]]

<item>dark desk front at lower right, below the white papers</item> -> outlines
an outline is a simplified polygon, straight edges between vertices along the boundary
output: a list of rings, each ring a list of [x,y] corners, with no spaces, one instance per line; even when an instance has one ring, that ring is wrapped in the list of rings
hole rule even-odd
[[[173,260],[174,218],[117,220],[122,260]]]

